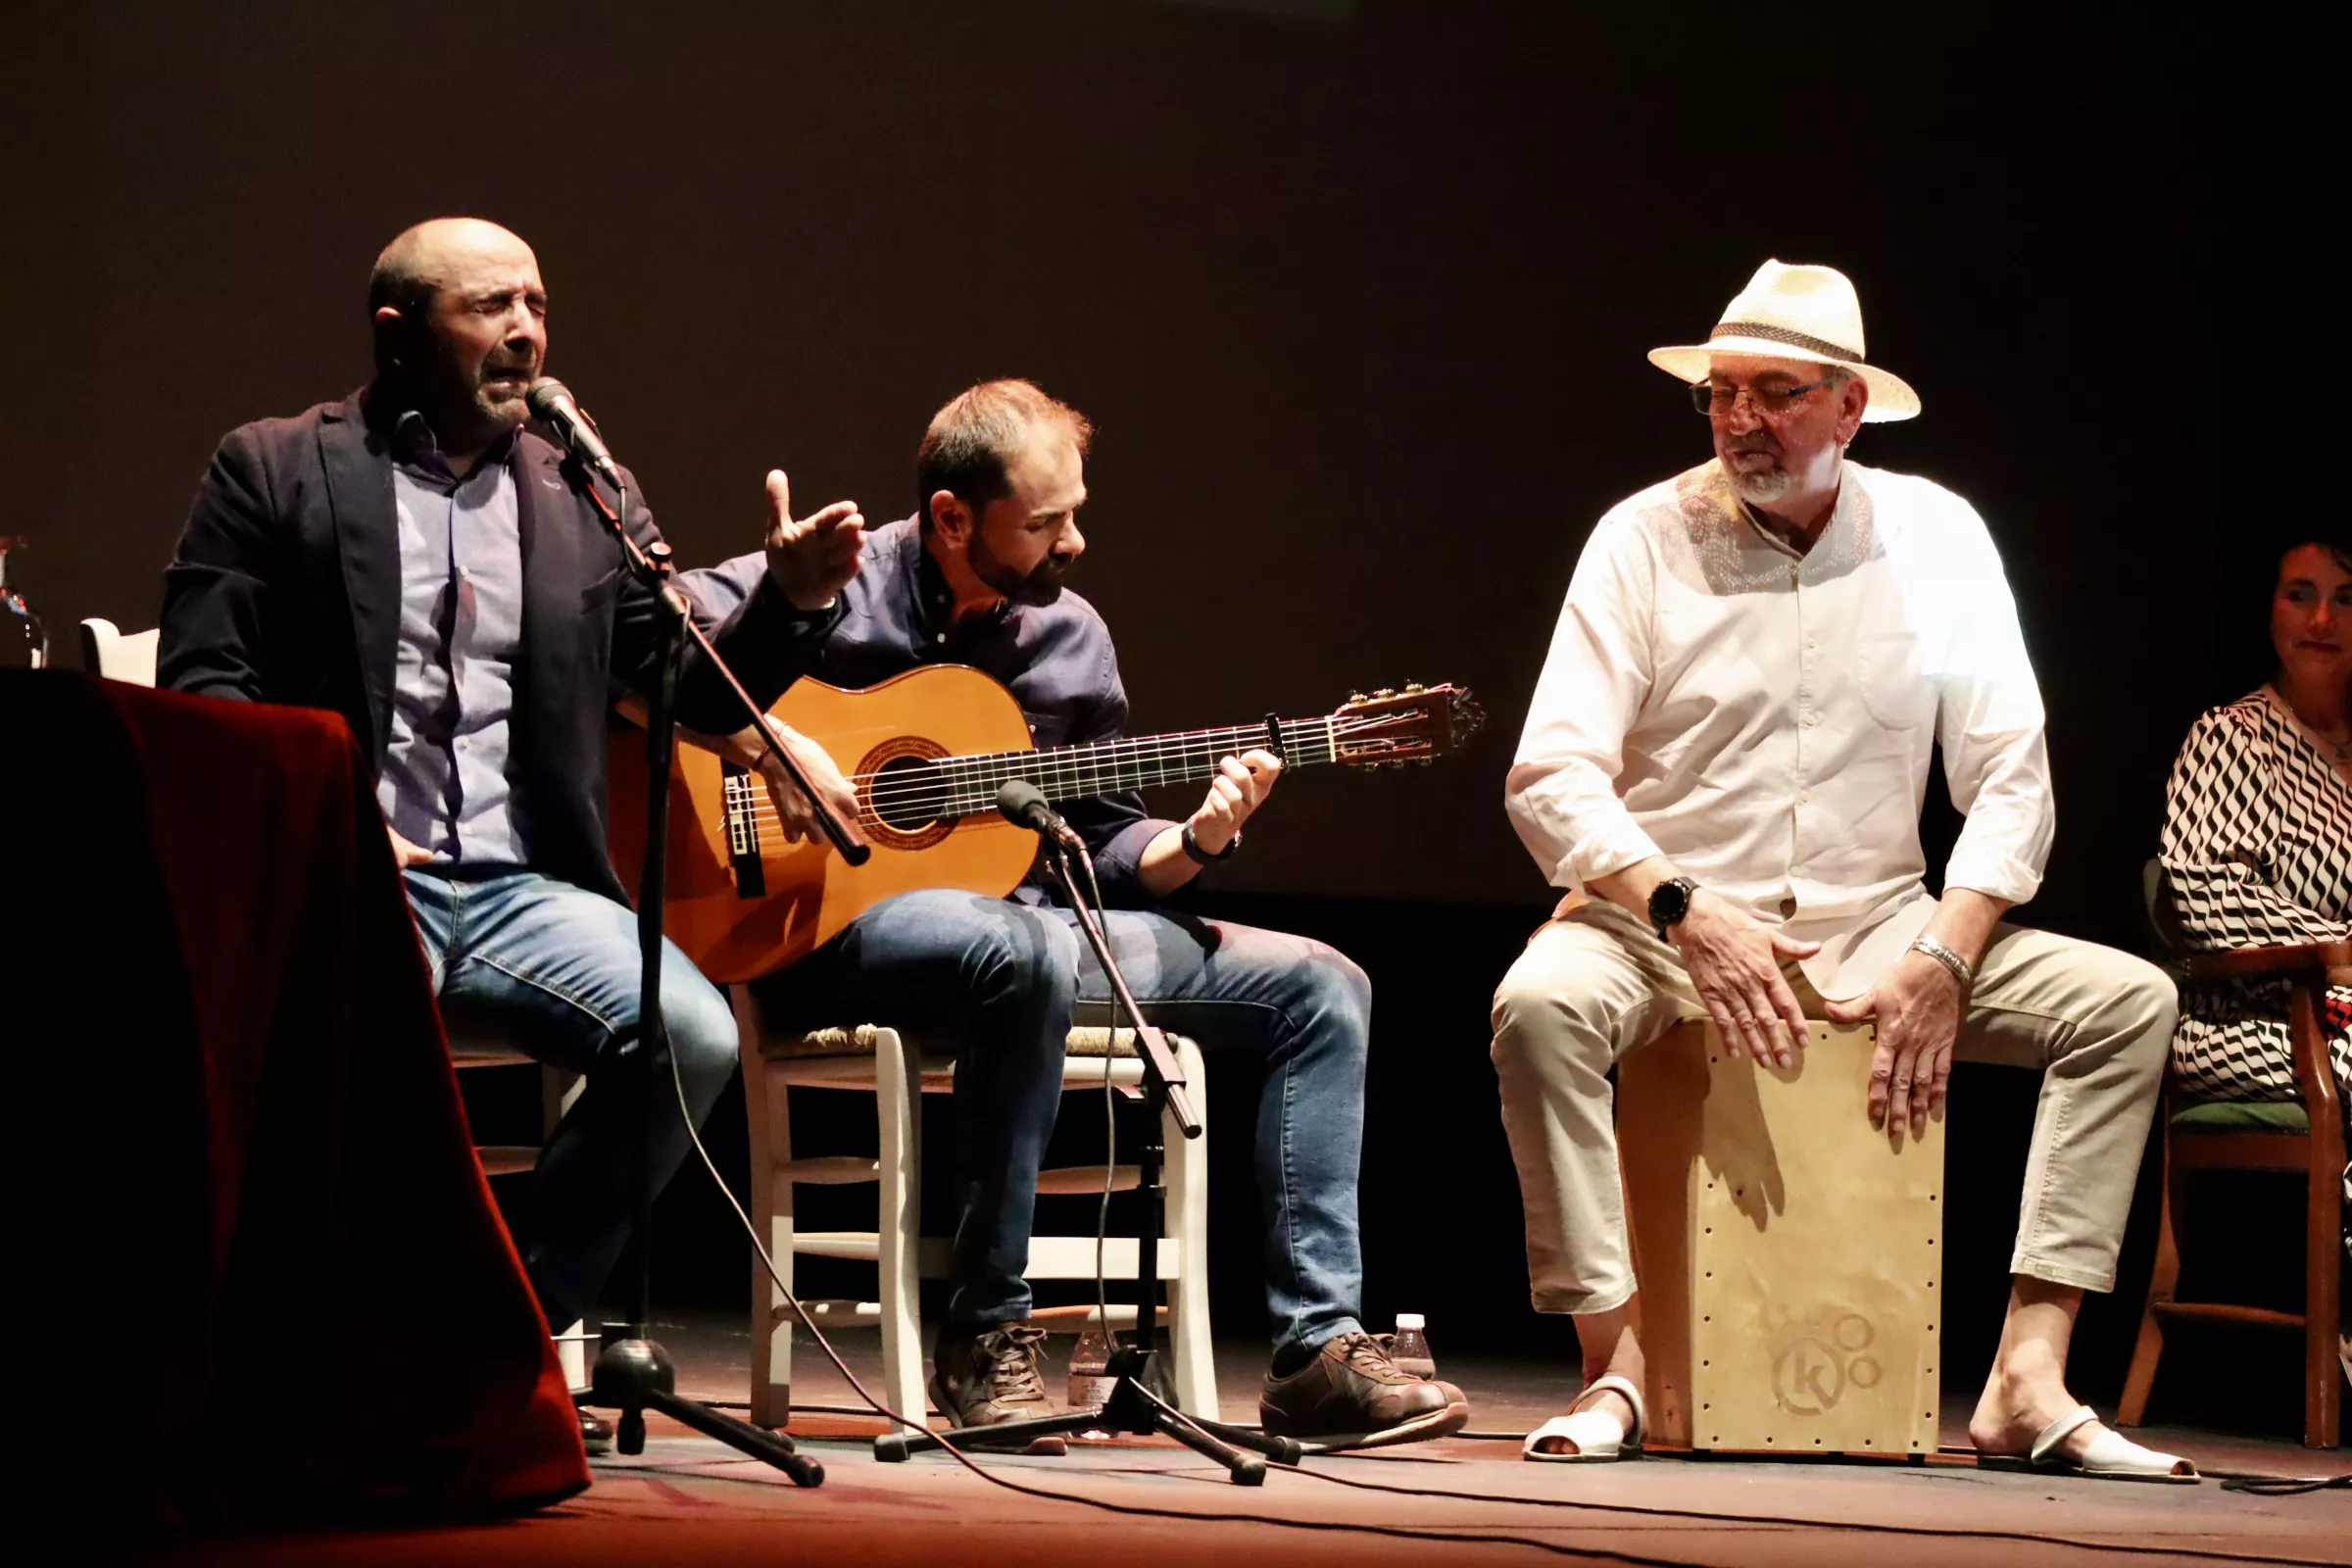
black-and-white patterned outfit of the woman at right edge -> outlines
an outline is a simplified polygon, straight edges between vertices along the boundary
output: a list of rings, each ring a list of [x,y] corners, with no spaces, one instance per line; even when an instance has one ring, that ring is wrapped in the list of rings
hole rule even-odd
[[[2190,947],[2352,938],[2352,783],[2263,686],[2197,719],[2166,788],[2164,884]],[[2288,980],[2187,987],[2173,1072],[2204,1100],[2293,1100]],[[2352,987],[2328,990],[2328,1056],[2352,1093]]]

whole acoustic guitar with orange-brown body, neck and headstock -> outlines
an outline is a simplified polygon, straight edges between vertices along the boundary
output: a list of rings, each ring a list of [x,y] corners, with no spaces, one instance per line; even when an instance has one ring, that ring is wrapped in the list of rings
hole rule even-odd
[[[1232,729],[1037,750],[1014,693],[967,665],[920,665],[866,691],[800,679],[771,712],[826,748],[856,788],[873,858],[847,865],[823,839],[786,844],[757,773],[680,745],[670,766],[668,936],[720,983],[807,957],[896,893],[1011,893],[1037,858],[1037,835],[997,816],[997,785],[1009,778],[1028,778],[1058,802],[1207,783],[1218,759],[1251,748],[1272,750],[1287,769],[1409,766],[1451,752],[1486,722],[1468,691],[1411,684],[1350,696],[1319,719],[1268,715]],[[635,886],[644,863],[640,731],[614,736],[609,778],[612,863],[621,884]]]

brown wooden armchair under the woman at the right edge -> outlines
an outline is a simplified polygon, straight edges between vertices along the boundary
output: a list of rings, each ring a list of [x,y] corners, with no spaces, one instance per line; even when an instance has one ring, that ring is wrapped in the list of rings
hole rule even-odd
[[[2150,865],[2154,870],[2154,865]],[[2185,985],[2281,976],[2293,980],[2286,1030],[2293,1041],[2300,1105],[2192,1103],[2178,1084],[2164,1091],[2164,1197],[2157,1220],[2157,1267],[2140,1312],[2140,1342],[2131,1352],[2117,1425],[2138,1427],[2157,1380],[2169,1321],[2251,1324],[2303,1335],[2303,1446],[2333,1448],[2343,1418],[2343,1373],[2336,1361],[2343,1253],[2345,1112],[2328,1067],[2328,985],[2352,983],[2352,943],[2298,943],[2187,954],[2176,969]],[[2185,1208],[2197,1171],[2291,1171],[2303,1178],[2303,1312],[2270,1312],[2232,1302],[2173,1298],[2180,1281],[2176,1215]]]

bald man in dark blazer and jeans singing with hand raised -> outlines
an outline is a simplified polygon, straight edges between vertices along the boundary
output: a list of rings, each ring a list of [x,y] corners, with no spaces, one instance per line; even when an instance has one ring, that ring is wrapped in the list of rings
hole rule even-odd
[[[656,607],[562,454],[522,430],[548,350],[532,249],[477,219],[419,223],[376,259],[367,308],[374,383],[214,454],[165,574],[158,679],[341,712],[376,769],[449,1027],[586,1074],[539,1157],[524,1251],[562,1326],[595,1307],[630,1227],[640,971],[604,860],[604,722],[614,684],[654,677]],[[652,543],[628,491],[630,536]],[[757,578],[715,628],[762,705],[840,618],[863,538],[847,501],[804,522],[788,508],[771,473]],[[677,715],[741,726],[691,649]],[[661,999],[701,1119],[734,1072],[734,1016],[675,947]],[[687,1128],[668,1084],[652,1095],[659,1190]]]

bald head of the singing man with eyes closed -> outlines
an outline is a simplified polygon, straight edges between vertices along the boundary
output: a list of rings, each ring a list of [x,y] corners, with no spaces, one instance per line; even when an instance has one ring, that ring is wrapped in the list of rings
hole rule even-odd
[[[376,378],[433,425],[442,451],[477,451],[524,421],[548,353],[539,256],[482,219],[405,230],[367,275]]]

